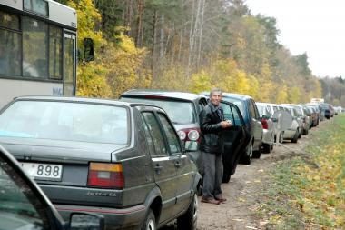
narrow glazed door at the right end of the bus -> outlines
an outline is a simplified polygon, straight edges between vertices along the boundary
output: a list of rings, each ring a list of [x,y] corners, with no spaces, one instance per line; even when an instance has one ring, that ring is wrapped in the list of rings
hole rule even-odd
[[[64,32],[64,95],[75,95],[76,36]]]

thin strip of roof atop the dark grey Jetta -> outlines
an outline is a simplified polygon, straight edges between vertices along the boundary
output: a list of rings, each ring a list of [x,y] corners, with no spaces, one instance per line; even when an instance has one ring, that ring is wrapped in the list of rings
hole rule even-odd
[[[91,98],[91,97],[79,97],[79,96],[49,96],[49,95],[27,95],[17,96],[14,100],[32,100],[32,101],[56,101],[56,102],[77,102],[77,103],[95,103],[95,104],[108,104],[108,105],[123,105],[123,106],[153,106],[160,108],[156,105],[150,105],[145,103],[136,102],[123,102],[115,99],[104,98]]]

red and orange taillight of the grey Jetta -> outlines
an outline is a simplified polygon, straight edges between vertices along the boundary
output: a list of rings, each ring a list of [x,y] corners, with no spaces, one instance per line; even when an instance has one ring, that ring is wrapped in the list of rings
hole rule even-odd
[[[124,187],[123,165],[90,163],[87,186],[122,189]]]

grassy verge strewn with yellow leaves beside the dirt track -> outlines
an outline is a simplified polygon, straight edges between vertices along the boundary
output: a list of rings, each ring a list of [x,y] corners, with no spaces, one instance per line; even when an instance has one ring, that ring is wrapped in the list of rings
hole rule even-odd
[[[303,154],[271,171],[257,208],[266,229],[345,229],[345,115],[311,133]]]

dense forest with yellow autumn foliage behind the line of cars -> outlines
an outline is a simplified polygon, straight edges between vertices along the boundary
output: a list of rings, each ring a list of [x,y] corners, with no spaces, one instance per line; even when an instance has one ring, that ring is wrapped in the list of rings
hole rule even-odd
[[[256,101],[345,106],[345,80],[312,75],[308,55],[279,42],[276,19],[245,0],[59,0],[77,10],[77,95],[117,98],[131,88],[199,93],[219,87]]]

